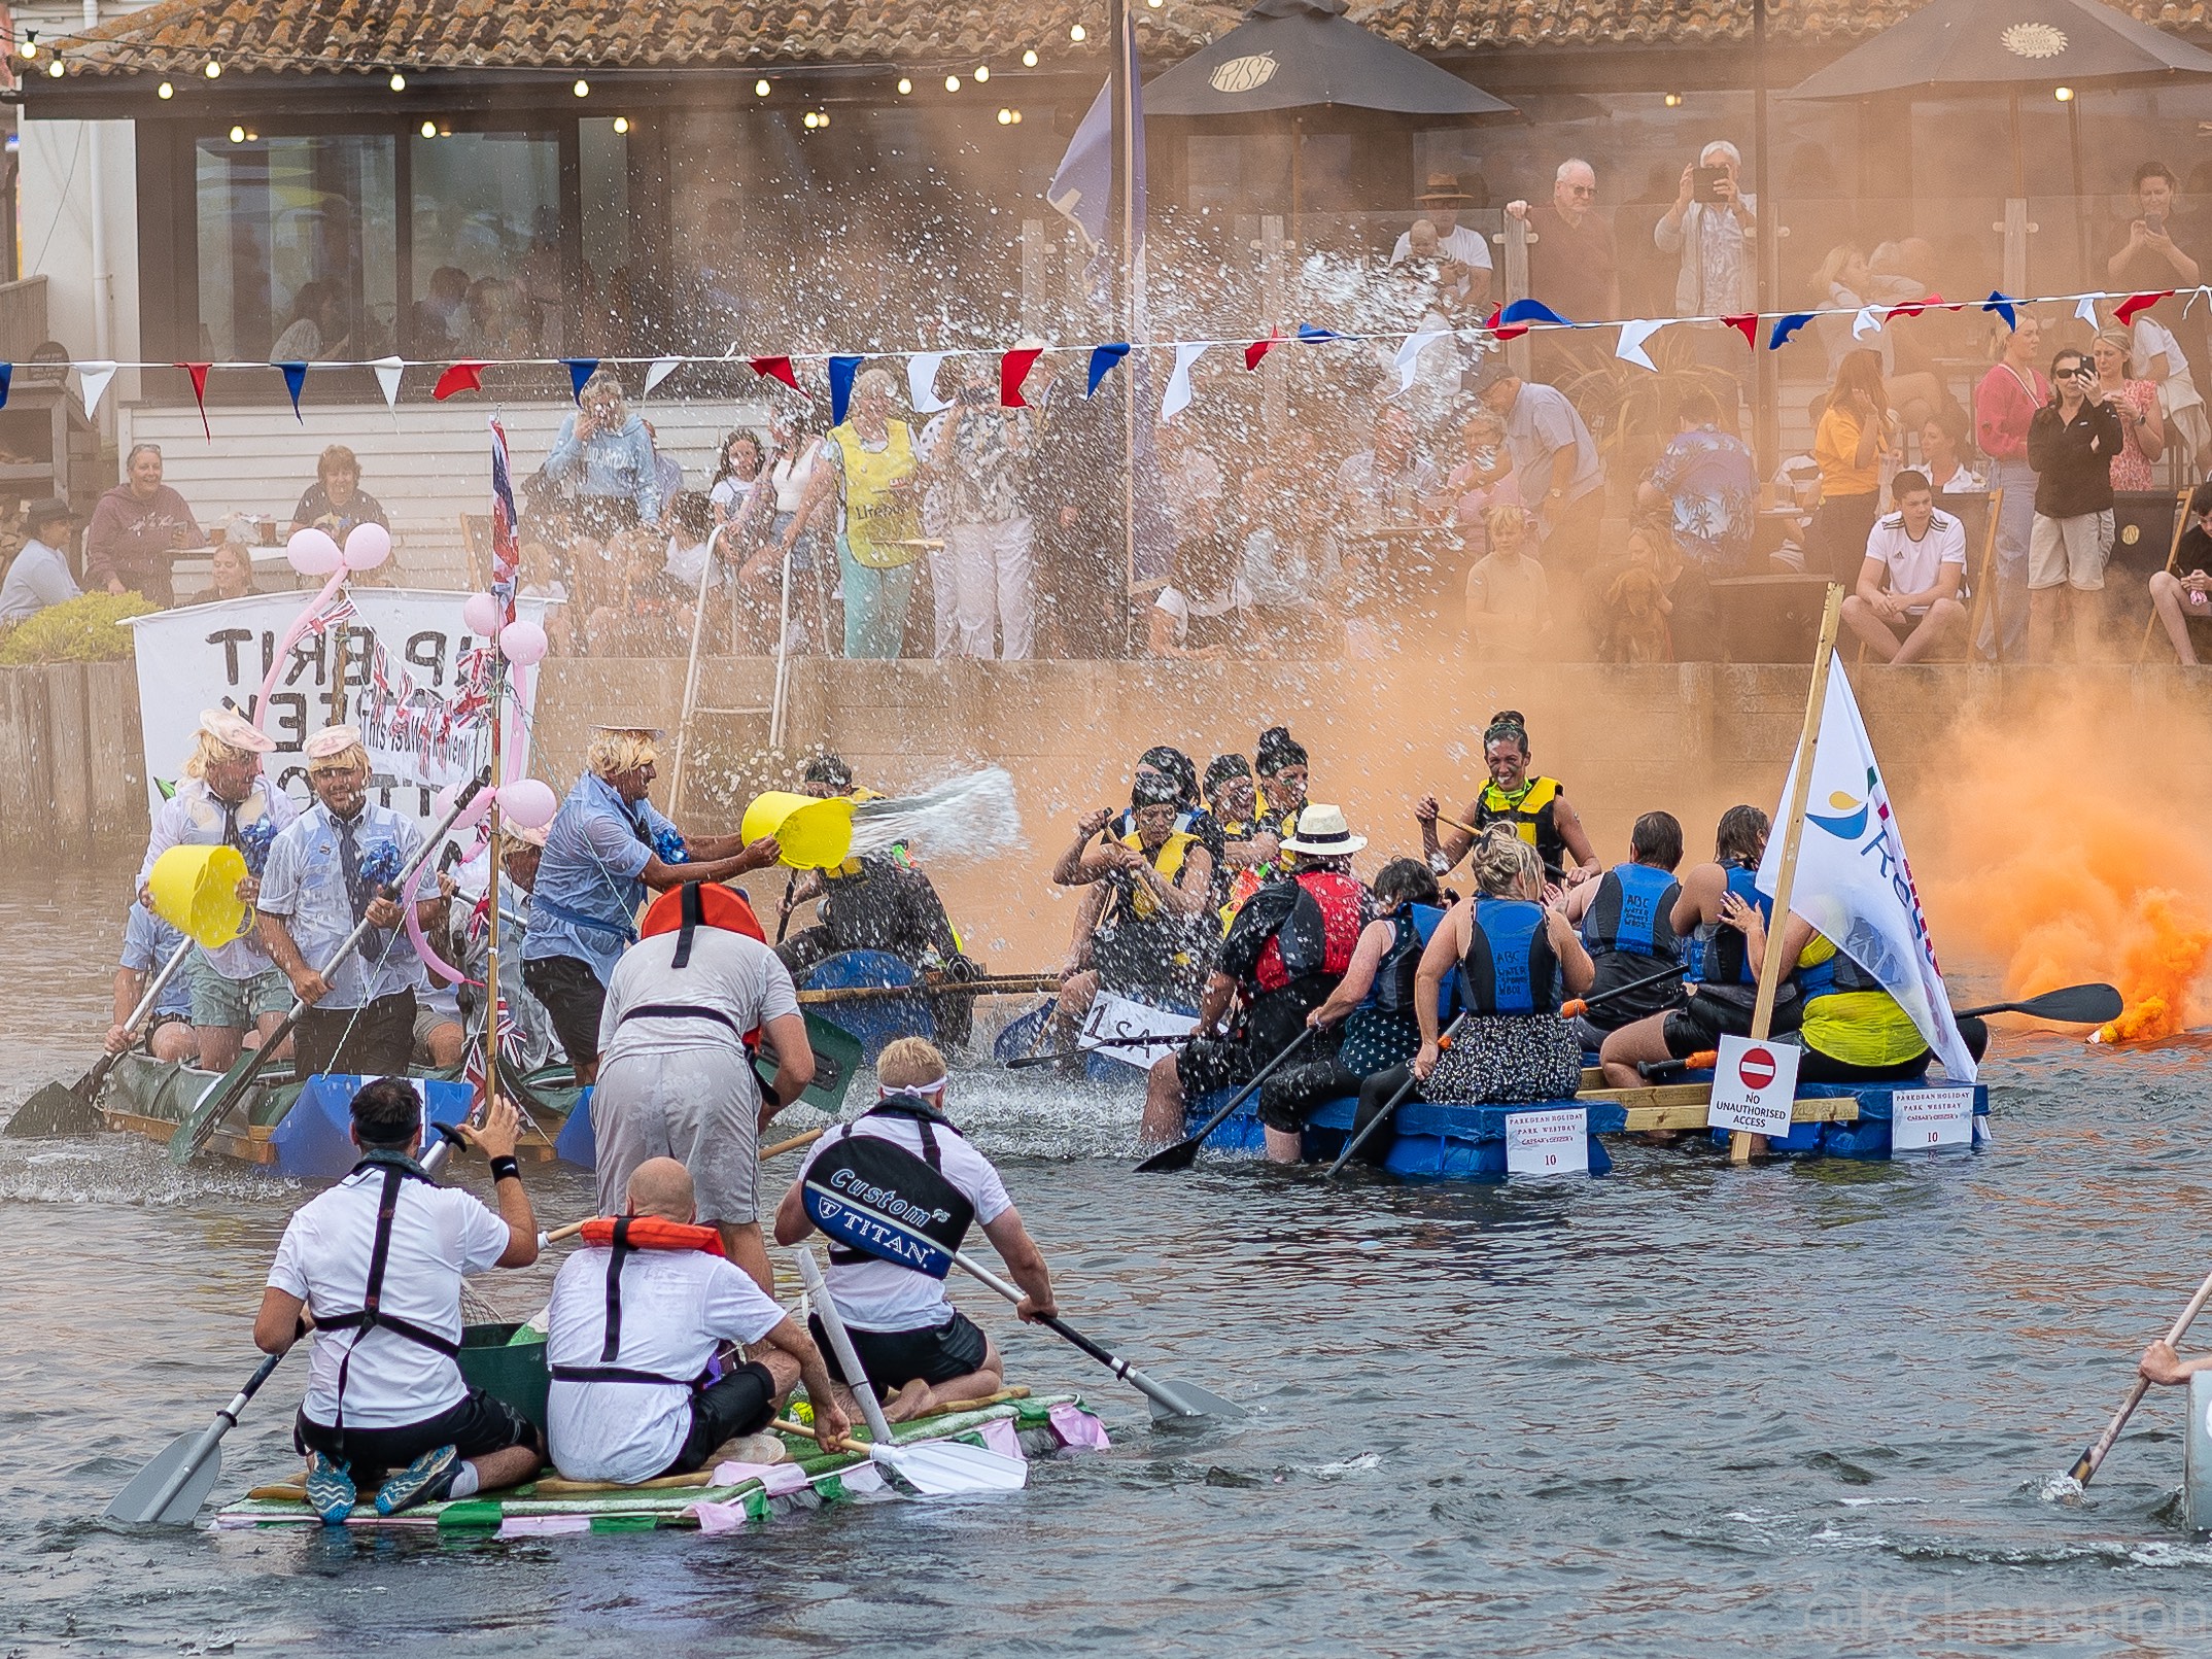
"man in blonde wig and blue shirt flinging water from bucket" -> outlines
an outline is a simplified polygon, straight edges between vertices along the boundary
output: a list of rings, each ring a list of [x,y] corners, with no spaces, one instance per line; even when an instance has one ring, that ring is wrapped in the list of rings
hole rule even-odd
[[[602,726],[584,752],[584,776],[546,830],[531,891],[531,933],[522,942],[522,982],[553,1015],[553,1031],[577,1082],[599,1075],[599,1011],[622,951],[637,942],[637,907],[648,891],[688,880],[728,880],[776,863],[781,847],[761,836],[684,834],[646,799],[657,776],[659,732]]]

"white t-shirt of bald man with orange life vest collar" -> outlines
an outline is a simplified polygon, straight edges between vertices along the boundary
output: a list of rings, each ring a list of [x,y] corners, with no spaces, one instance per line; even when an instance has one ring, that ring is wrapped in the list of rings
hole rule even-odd
[[[759,1343],[783,1321],[752,1279],[703,1250],[639,1250],[622,1263],[622,1345],[606,1347],[611,1250],[577,1250],[553,1279],[549,1365],[617,1365],[692,1378],[721,1340]],[[546,1396],[546,1438],[568,1480],[653,1480],[690,1433],[690,1389],[655,1383],[564,1383]]]

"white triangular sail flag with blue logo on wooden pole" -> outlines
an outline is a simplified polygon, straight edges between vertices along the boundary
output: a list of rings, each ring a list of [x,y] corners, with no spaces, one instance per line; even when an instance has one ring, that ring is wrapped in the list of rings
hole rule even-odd
[[[1796,794],[1798,761],[1792,761],[1783,783],[1785,812]],[[1781,860],[1783,818],[1776,816],[1767,856],[1759,865],[1759,891],[1774,891]],[[1973,1082],[1973,1055],[1951,1018],[1920,889],[1913,887],[1905,858],[1905,834],[1840,661],[1829,664],[1827,672],[1827,706],[1820,710],[1820,745],[1812,790],[1805,794],[1805,834],[1798,841],[1790,909],[1882,982],[1953,1082]]]

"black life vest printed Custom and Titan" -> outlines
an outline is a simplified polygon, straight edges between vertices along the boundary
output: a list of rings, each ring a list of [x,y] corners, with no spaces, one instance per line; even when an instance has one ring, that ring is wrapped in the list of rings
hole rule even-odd
[[[945,1279],[975,1221],[975,1203],[945,1179],[938,1152],[938,1130],[960,1130],[920,1095],[887,1095],[860,1117],[878,1115],[911,1117],[922,1155],[880,1135],[854,1135],[847,1124],[807,1166],[807,1217],[830,1239],[834,1265],[889,1261]]]

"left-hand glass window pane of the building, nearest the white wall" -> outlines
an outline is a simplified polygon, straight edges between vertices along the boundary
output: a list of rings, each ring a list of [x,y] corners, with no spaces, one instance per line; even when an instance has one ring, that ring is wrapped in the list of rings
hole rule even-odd
[[[204,137],[199,356],[358,361],[394,349],[389,137]]]

